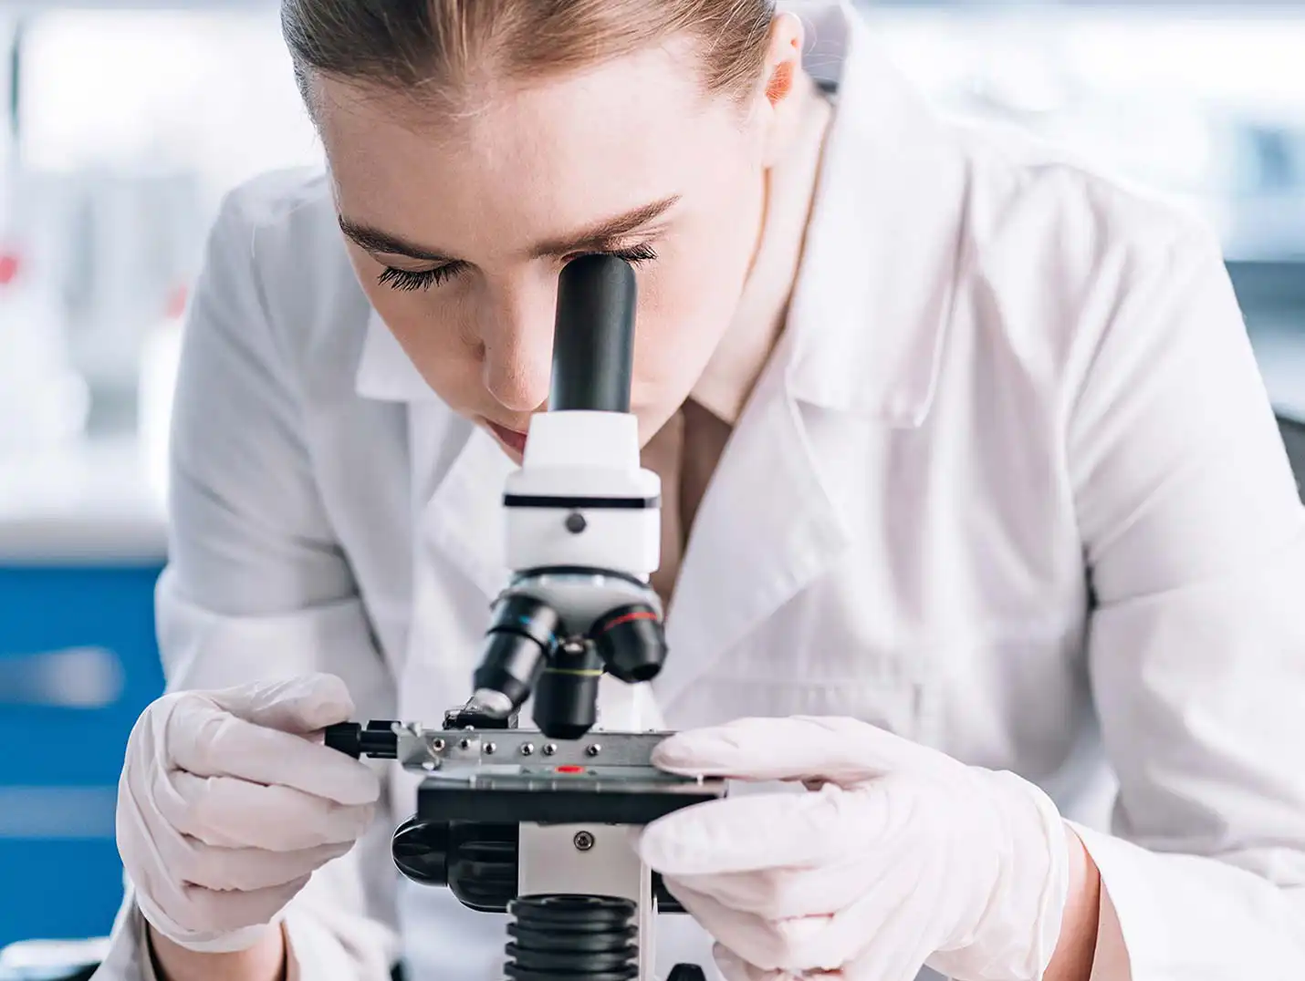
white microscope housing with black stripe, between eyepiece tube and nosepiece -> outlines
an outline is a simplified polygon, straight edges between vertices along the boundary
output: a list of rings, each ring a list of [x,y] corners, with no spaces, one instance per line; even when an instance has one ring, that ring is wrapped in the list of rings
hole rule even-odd
[[[506,493],[525,497],[660,500],[662,480],[639,466],[638,420],[619,412],[542,412],[530,420],[521,470]],[[579,513],[585,530],[568,519]],[[509,507],[512,569],[581,565],[646,579],[662,561],[655,507]]]

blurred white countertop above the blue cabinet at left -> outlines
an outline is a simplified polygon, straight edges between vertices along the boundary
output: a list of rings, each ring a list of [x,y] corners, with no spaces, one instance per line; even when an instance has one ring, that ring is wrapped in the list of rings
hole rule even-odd
[[[129,437],[0,457],[0,565],[155,564],[167,514]]]

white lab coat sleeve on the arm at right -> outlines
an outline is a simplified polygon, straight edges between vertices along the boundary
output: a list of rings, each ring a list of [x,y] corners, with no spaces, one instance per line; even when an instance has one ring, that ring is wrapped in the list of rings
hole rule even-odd
[[[1212,236],[1131,269],[1065,415],[1120,780],[1081,835],[1134,981],[1298,980],[1305,513]]]

